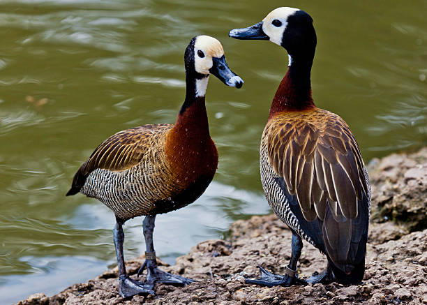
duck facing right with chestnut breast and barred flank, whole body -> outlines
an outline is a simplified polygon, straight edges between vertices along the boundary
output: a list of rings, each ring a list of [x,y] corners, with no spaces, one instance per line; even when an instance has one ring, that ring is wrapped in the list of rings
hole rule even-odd
[[[218,151],[209,134],[205,94],[209,75],[229,87],[244,81],[230,70],[221,43],[195,36],[184,54],[186,96],[175,124],[149,124],[119,131],[102,142],[77,170],[66,195],[82,193],[112,209],[119,267],[119,295],[154,295],[155,283],[188,285],[190,278],[158,269],[153,246],[156,215],[185,207],[204,193],[218,165]],[[123,258],[123,224],[145,216],[142,227],[147,251],[138,277],[130,278]]]

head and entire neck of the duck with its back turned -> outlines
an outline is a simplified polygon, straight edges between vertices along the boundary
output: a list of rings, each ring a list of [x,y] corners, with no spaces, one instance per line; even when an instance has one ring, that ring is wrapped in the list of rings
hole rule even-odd
[[[311,97],[310,73],[317,38],[313,19],[304,10],[276,8],[262,22],[243,29],[232,29],[229,36],[270,40],[287,50],[289,69],[271,103],[270,119],[281,112],[315,107]]]

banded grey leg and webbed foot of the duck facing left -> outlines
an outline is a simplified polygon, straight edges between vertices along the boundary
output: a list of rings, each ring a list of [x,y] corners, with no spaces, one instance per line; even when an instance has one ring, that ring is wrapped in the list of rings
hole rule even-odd
[[[261,276],[257,279],[245,279],[247,284],[257,284],[264,285],[268,287],[273,287],[277,285],[282,285],[289,287],[295,283],[306,284],[306,281],[302,281],[297,276],[297,262],[301,256],[301,250],[303,248],[303,243],[299,235],[292,232],[292,254],[289,265],[286,267],[285,275],[273,274],[266,269],[258,266],[260,268]]]

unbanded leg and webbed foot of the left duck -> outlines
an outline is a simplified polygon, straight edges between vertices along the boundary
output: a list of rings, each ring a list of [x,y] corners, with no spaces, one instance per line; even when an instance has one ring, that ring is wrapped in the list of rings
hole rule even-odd
[[[119,295],[121,297],[132,297],[140,293],[155,295],[153,285],[144,285],[133,280],[126,273],[125,262],[123,258],[124,233],[123,223],[117,220],[113,230],[114,245],[116,246],[117,263],[119,267]]]

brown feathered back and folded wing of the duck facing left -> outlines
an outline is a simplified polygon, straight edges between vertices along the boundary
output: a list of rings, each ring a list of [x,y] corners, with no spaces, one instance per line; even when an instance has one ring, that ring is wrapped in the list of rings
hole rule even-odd
[[[287,197],[294,195],[304,221],[322,225],[322,232],[306,233],[322,235],[331,259],[347,264],[351,252],[357,252],[352,243],[367,235],[367,225],[359,228],[364,227],[359,223],[368,219],[364,163],[350,128],[324,111],[313,118],[278,119],[269,129],[269,163],[285,181],[281,188]]]

